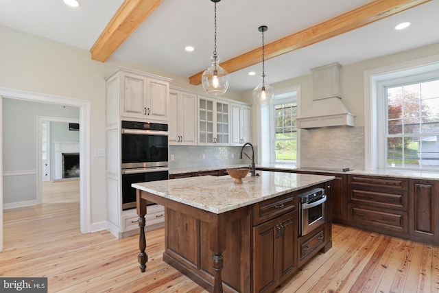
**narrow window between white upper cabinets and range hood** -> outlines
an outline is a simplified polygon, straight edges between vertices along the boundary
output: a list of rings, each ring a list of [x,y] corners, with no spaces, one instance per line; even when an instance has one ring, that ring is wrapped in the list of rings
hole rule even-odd
[[[274,102],[274,163],[296,163],[297,160],[297,101]]]

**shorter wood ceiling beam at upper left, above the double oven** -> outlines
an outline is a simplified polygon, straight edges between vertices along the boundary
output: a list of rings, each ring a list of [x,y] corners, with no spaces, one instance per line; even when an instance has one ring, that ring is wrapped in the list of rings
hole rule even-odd
[[[162,0],[125,0],[91,47],[91,58],[105,62]]]

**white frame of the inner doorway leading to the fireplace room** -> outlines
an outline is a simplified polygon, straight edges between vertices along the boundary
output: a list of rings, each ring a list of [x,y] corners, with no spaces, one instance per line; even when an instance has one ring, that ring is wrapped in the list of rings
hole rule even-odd
[[[43,140],[41,138],[41,133],[43,132],[43,129],[41,127],[41,124],[43,121],[49,121],[49,122],[69,122],[69,123],[80,123],[80,119],[75,118],[64,118],[64,117],[54,117],[54,116],[37,116],[37,130],[36,130],[36,145],[37,145],[37,152],[36,152],[36,204],[42,204],[43,203],[43,174],[41,173],[41,170],[43,169],[43,159],[41,157],[41,153],[43,152],[42,144]],[[81,124],[80,124],[81,125]],[[81,130],[80,130],[81,131]],[[81,132],[80,132],[81,135]],[[80,141],[81,143],[81,141]],[[51,148],[49,147],[49,150]],[[81,160],[81,149],[80,149],[80,160]],[[50,152],[49,152],[50,157]],[[50,161],[50,160],[49,160]],[[50,162],[52,163],[52,162]],[[81,165],[81,164],[80,164]],[[49,166],[50,167],[50,166]],[[81,168],[80,168],[80,180],[81,178]],[[81,181],[80,181],[81,184]]]

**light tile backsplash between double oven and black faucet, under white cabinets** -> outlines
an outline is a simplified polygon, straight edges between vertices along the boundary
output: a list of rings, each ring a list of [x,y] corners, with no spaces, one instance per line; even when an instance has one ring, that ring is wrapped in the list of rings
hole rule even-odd
[[[240,146],[169,145],[169,167],[177,169],[250,164],[251,160],[246,156],[242,160],[239,159],[239,152],[241,152]],[[244,152],[249,156],[252,155],[251,148],[248,146]],[[256,148],[254,148],[254,152],[256,157]],[[172,155],[174,155],[174,161],[171,161]]]

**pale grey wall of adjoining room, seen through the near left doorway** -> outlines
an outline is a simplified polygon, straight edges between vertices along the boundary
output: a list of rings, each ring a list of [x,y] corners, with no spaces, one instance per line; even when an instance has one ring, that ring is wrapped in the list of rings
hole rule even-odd
[[[38,116],[79,118],[79,109],[19,99],[3,99],[3,203],[36,201]]]

